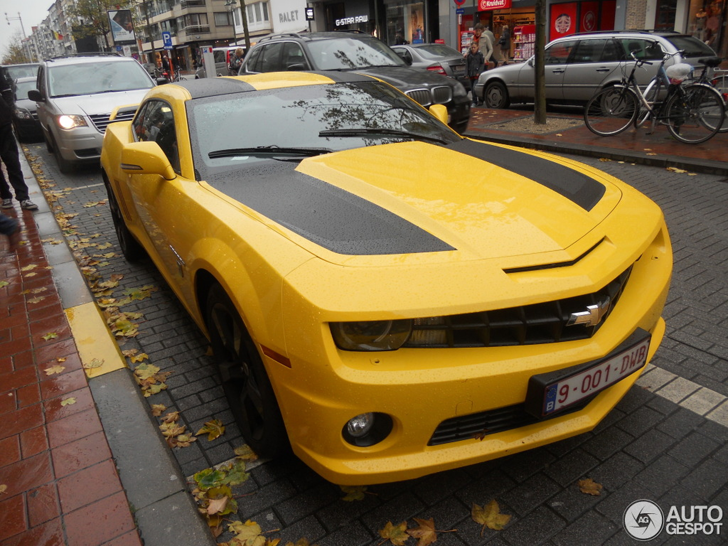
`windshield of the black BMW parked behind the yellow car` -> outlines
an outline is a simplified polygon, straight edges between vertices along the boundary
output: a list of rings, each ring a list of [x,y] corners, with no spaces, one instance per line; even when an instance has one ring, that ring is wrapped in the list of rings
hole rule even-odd
[[[319,70],[354,70],[370,66],[406,66],[387,44],[377,39],[313,40],[309,52]]]

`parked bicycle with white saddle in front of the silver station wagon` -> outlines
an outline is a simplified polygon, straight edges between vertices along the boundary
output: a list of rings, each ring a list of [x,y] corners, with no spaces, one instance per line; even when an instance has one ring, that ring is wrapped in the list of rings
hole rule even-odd
[[[617,135],[631,125],[641,126],[652,120],[663,124],[678,141],[697,144],[707,141],[721,129],[725,119],[725,105],[721,94],[706,83],[682,84],[692,67],[680,63],[665,69],[665,62],[682,52],[665,53],[657,74],[644,92],[635,79],[637,68],[652,64],[638,59],[622,83],[606,87],[594,95],[584,111],[584,121],[596,135]]]

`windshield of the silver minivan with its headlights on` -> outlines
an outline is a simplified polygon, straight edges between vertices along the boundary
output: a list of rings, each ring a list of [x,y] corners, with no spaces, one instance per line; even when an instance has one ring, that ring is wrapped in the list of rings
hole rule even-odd
[[[151,89],[149,74],[136,61],[100,61],[48,68],[51,97]]]

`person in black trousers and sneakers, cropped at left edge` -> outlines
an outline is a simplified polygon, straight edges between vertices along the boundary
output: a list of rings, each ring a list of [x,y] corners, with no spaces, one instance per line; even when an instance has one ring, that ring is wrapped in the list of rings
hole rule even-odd
[[[5,82],[3,82],[5,87]],[[38,205],[28,197],[28,186],[23,179],[23,168],[20,167],[20,151],[17,149],[15,135],[12,133],[12,90],[2,89],[0,93],[0,159],[7,169],[12,188],[15,190],[15,199],[20,202],[24,210],[37,210]],[[0,197],[2,208],[12,208],[12,192],[3,170],[0,168]]]

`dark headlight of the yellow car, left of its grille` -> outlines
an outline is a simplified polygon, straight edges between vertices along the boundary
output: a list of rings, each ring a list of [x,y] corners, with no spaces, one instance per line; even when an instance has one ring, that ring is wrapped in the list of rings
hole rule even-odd
[[[411,320],[331,323],[333,341],[345,351],[393,351],[402,347],[411,331]]]

